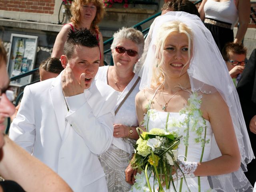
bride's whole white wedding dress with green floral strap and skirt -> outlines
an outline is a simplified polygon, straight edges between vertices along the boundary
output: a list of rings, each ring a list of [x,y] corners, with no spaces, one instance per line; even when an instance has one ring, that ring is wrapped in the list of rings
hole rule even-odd
[[[148,107],[148,112],[144,116],[144,126],[147,131],[152,128],[161,128],[178,136],[183,137],[178,145],[179,159],[188,162],[204,162],[208,161],[210,155],[211,141],[213,137],[210,122],[202,118],[200,110],[201,96],[197,93],[192,93],[188,99],[188,104],[180,110],[180,112],[163,112]],[[207,176],[186,178],[188,188],[191,192],[209,192],[212,191],[208,183]],[[153,187],[153,178],[150,178],[151,188]],[[181,184],[182,183],[182,184]],[[155,190],[158,187],[155,180]],[[184,179],[178,179],[174,182],[176,190],[187,192],[188,188]],[[200,190],[198,189],[200,188]],[[180,190],[181,189],[181,190]],[[170,190],[164,190],[173,192]],[[136,175],[136,183],[133,185],[130,192],[149,191],[146,183],[145,174]],[[153,188],[152,188],[153,191]]]

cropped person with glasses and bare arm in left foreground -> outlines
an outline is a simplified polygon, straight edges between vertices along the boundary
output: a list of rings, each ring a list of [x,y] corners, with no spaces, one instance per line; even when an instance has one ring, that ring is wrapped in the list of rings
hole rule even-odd
[[[6,51],[0,40],[0,175],[5,179],[0,182],[0,192],[71,192],[60,176],[3,134],[6,118],[15,111],[13,98],[6,72]]]

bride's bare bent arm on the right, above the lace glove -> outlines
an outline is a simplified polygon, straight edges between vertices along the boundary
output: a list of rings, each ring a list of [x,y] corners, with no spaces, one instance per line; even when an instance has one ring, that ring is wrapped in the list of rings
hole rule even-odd
[[[240,152],[228,106],[219,93],[204,96],[203,103],[222,156],[198,163],[194,174],[211,176],[234,172],[240,167]]]

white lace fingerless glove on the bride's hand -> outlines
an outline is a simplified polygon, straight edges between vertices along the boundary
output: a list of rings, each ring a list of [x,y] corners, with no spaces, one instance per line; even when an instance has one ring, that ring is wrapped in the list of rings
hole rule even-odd
[[[194,172],[197,168],[197,162],[187,162],[179,159],[177,160],[177,162],[185,177],[195,177]],[[177,169],[178,178],[184,177],[180,169]],[[173,174],[172,178],[177,179],[177,174]]]

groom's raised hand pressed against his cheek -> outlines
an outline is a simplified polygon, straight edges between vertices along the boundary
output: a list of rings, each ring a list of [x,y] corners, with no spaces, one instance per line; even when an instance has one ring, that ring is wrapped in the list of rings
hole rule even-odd
[[[69,64],[67,64],[61,76],[62,90],[65,97],[78,95],[84,92],[86,86],[84,84],[85,73],[80,75],[78,82],[74,76],[73,70]]]

